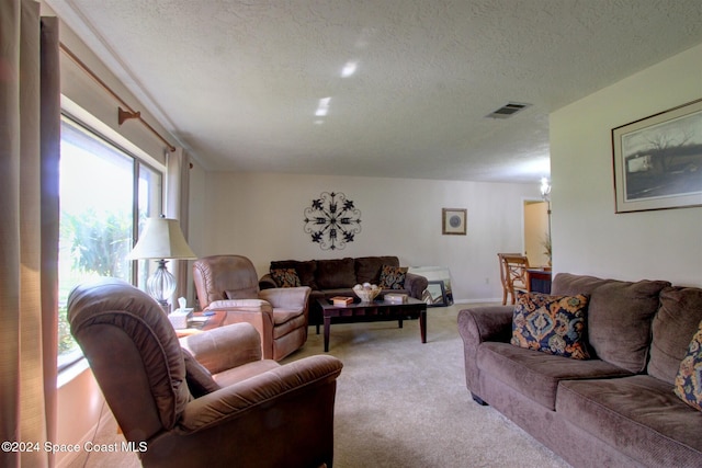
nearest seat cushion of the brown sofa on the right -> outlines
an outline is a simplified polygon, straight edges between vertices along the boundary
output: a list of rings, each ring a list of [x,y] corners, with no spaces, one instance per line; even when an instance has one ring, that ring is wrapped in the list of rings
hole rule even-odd
[[[670,384],[648,375],[563,380],[556,412],[646,466],[702,460],[702,414],[680,401]]]

